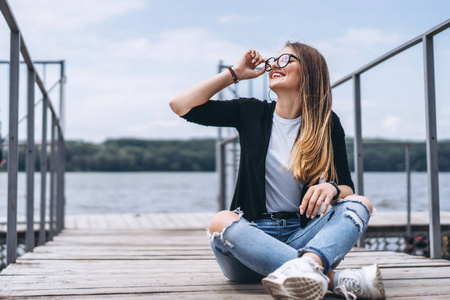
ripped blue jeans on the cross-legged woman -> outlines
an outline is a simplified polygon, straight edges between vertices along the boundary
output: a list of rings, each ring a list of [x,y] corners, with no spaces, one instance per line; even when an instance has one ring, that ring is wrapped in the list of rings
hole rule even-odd
[[[223,274],[232,281],[255,282],[305,252],[317,254],[327,274],[356,244],[369,218],[362,202],[339,200],[305,228],[299,218],[249,222],[240,213],[221,233],[208,235]]]

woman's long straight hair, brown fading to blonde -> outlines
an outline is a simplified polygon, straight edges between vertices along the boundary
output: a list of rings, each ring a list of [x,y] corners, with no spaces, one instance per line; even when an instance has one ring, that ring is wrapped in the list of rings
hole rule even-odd
[[[313,185],[319,179],[337,180],[331,141],[331,85],[325,58],[316,49],[287,42],[300,60],[302,75],[296,101],[301,102],[301,124],[290,153],[294,177]]]

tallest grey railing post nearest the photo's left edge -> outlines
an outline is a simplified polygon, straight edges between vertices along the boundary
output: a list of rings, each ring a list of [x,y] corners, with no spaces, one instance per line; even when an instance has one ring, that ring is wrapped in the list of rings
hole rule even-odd
[[[9,64],[8,230],[6,264],[17,258],[17,173],[19,168],[19,68],[20,32],[11,31]]]

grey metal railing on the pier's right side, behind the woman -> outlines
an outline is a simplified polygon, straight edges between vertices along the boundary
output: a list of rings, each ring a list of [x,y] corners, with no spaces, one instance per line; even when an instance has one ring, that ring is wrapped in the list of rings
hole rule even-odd
[[[435,78],[434,78],[434,55],[433,55],[433,37],[438,33],[448,29],[450,27],[450,19],[439,24],[438,26],[428,30],[424,34],[410,40],[409,42],[389,51],[382,55],[378,59],[363,66],[362,68],[352,72],[351,74],[343,77],[332,84],[332,88],[335,88],[351,79],[353,79],[354,86],[354,120],[355,120],[355,134],[354,134],[354,163],[356,174],[356,192],[358,194],[364,194],[364,181],[363,181],[363,141],[362,141],[362,125],[361,125],[361,74],[372,69],[373,67],[381,64],[382,62],[394,57],[395,55],[402,53],[403,51],[419,44],[423,43],[424,53],[424,70],[425,70],[425,115],[426,115],[426,148],[427,148],[427,177],[428,177],[428,198],[429,198],[429,240],[430,240],[430,257],[441,257],[441,229],[440,229],[440,215],[439,215],[439,180],[438,180],[438,155],[437,155],[437,134],[436,134],[436,99],[435,99]],[[226,68],[222,62],[219,65],[219,72]],[[237,95],[237,93],[236,93]],[[219,93],[219,99],[224,99],[221,93]],[[219,138],[217,141],[218,158],[217,166],[219,171],[219,205],[221,209],[226,209],[226,147],[228,144],[236,145],[238,138],[228,138],[224,140],[219,131]],[[406,167],[409,168],[409,146],[405,145],[407,150]],[[235,147],[235,146],[234,146]],[[231,163],[233,164],[233,163]],[[407,174],[410,174],[407,171]],[[223,178],[225,176],[225,178]],[[408,187],[407,194],[410,198],[410,175],[408,175]],[[410,211],[410,204],[408,206]],[[410,222],[410,213],[408,214],[408,220]],[[359,246],[364,246],[364,237],[360,239]]]

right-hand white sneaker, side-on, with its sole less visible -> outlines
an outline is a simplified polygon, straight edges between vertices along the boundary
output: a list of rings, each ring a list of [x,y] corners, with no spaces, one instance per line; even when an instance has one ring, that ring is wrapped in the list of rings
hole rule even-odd
[[[383,278],[377,264],[341,271],[338,286],[333,291],[347,300],[385,298]]]

